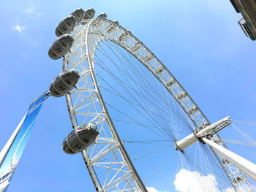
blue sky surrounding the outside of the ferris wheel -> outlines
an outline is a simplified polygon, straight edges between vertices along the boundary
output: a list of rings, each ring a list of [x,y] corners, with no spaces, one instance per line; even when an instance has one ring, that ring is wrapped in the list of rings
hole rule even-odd
[[[60,20],[78,7],[106,12],[108,19],[132,31],[181,82],[211,123],[227,115],[256,122],[256,45],[238,26],[241,15],[230,1],[0,1],[0,148],[29,104],[61,72],[61,60],[48,58],[48,48]],[[255,127],[237,125],[256,139]],[[81,155],[61,150],[69,131],[65,99],[45,101],[9,191],[94,191]],[[221,136],[240,139],[228,128]],[[228,146],[256,162],[255,148]],[[148,187],[159,188],[151,184]]]

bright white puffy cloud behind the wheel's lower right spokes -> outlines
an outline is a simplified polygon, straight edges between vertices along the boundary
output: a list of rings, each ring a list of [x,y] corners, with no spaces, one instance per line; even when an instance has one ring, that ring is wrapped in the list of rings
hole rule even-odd
[[[189,172],[181,169],[174,180],[175,188],[179,192],[198,192],[206,191],[218,192],[216,177],[212,174],[201,175],[199,172]],[[202,189],[203,187],[203,189]],[[223,192],[235,192],[233,188],[226,188]]]

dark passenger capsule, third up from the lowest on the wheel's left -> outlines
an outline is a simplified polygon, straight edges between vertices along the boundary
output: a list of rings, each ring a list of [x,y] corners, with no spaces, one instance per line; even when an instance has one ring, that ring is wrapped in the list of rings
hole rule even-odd
[[[72,47],[74,39],[69,34],[61,35],[52,45],[48,51],[48,55],[52,59],[58,59],[63,57],[69,52]]]

